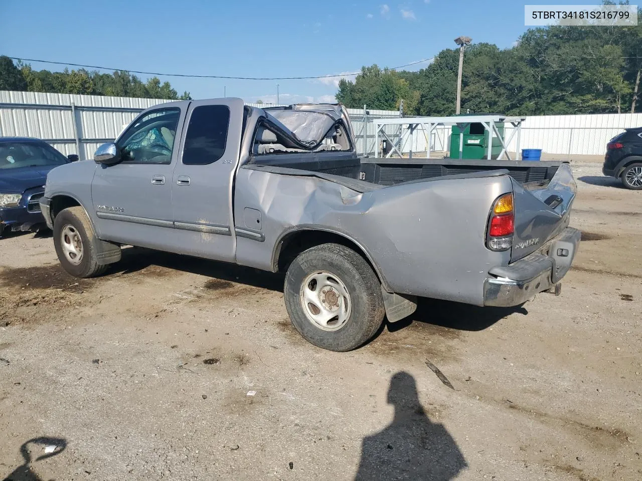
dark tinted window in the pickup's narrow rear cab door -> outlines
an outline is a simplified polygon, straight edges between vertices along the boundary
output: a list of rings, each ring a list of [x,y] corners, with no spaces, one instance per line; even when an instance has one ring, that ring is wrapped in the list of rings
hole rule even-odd
[[[196,107],[189,117],[183,164],[213,164],[225,153],[227,126],[230,109],[225,105],[202,105]]]

